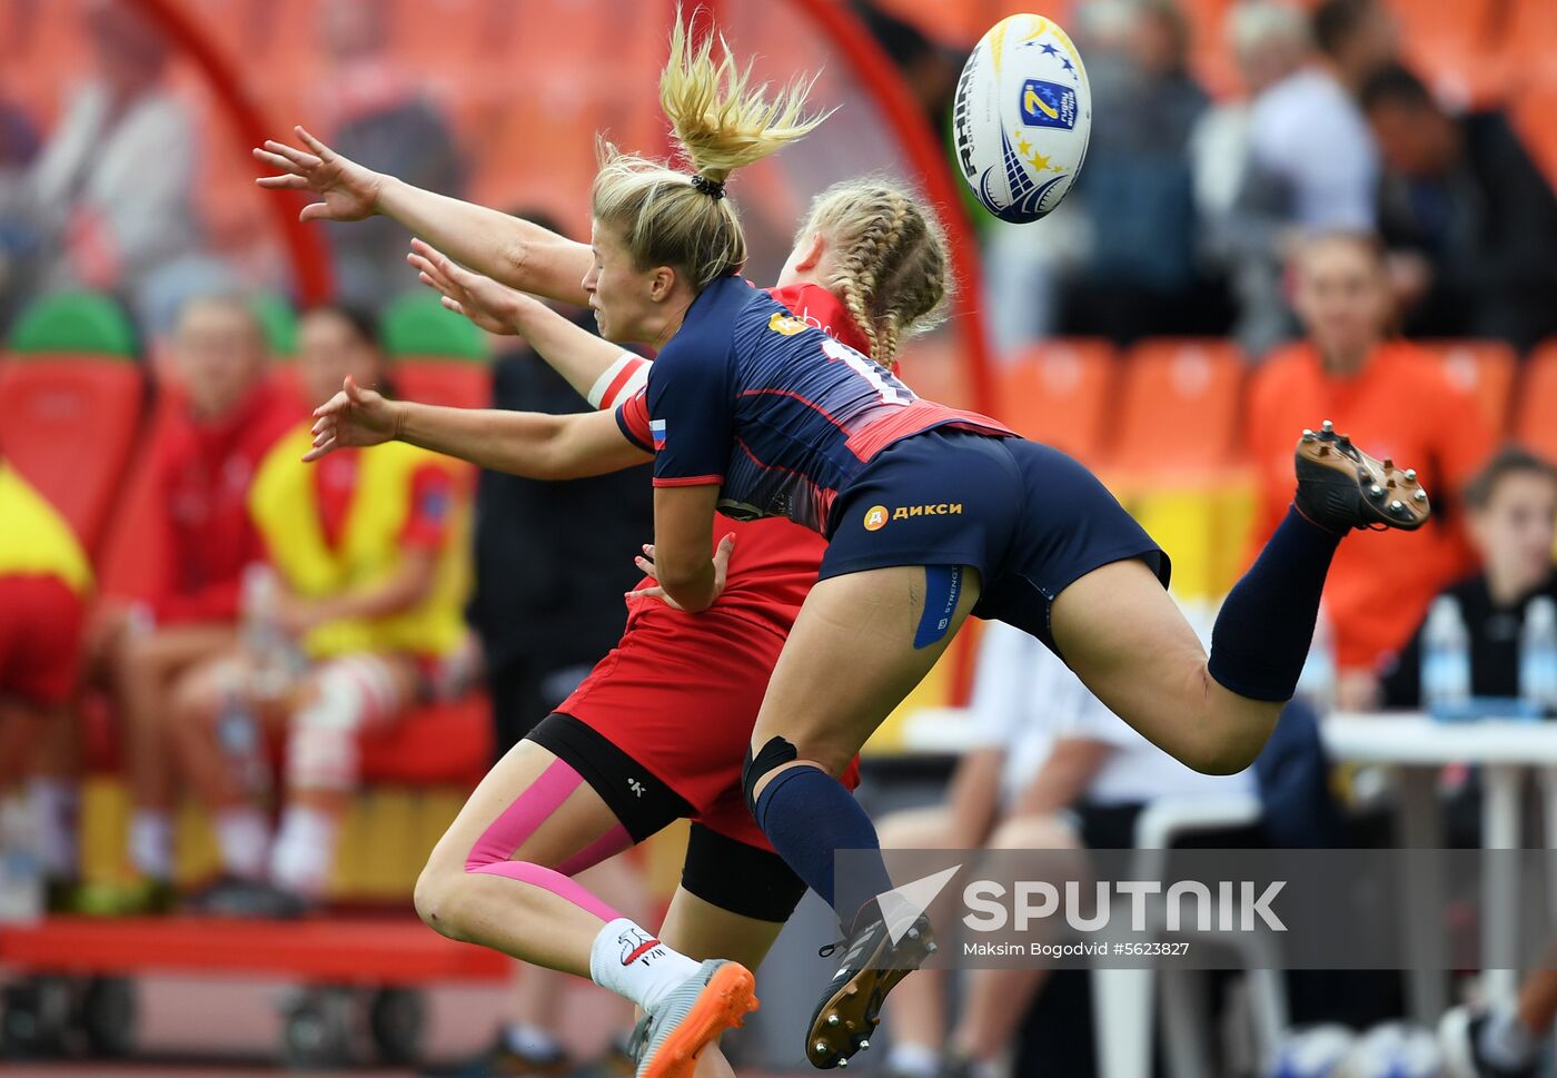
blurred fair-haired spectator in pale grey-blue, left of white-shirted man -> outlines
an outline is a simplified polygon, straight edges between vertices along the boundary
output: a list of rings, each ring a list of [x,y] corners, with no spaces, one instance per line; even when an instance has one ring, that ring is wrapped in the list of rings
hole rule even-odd
[[[1200,254],[1225,276],[1238,312],[1238,343],[1247,355],[1261,355],[1291,333],[1275,251],[1292,224],[1280,199],[1256,204],[1260,184],[1250,184],[1255,103],[1305,69],[1313,39],[1308,16],[1278,0],[1238,5],[1225,28],[1247,97],[1216,106],[1191,134],[1194,204]]]

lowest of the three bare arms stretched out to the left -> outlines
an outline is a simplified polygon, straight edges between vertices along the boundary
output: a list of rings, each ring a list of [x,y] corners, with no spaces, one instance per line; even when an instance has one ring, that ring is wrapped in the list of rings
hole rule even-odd
[[[627,441],[610,411],[545,416],[441,408],[389,400],[347,379],[346,386],[313,414],[313,449],[305,461],[347,446],[377,446],[391,439],[532,480],[604,475],[652,460],[652,453]]]

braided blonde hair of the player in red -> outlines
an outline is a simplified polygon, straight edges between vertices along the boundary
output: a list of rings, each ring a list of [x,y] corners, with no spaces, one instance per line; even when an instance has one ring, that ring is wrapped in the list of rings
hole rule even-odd
[[[897,365],[906,338],[939,326],[951,294],[947,235],[914,195],[884,179],[833,184],[811,203],[797,243],[821,232],[835,251],[827,287],[870,343]]]

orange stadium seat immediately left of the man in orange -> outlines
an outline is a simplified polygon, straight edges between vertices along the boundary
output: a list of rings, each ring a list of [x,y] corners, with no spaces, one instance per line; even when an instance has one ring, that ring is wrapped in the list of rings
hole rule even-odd
[[[1216,338],[1152,338],[1126,355],[1113,470],[1218,472],[1236,442],[1244,361]]]

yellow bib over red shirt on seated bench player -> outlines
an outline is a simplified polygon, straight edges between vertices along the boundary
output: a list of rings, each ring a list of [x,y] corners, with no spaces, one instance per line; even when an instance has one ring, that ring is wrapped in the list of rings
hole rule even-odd
[[[266,453],[249,488],[249,513],[265,539],[271,564],[293,592],[324,598],[372,587],[400,559],[400,533],[411,514],[411,477],[439,460],[403,442],[361,450],[339,545],[324,537],[313,464],[302,455],[313,446],[308,424],[282,438]],[[313,657],[349,651],[409,651],[441,656],[464,637],[469,590],[469,506],[450,506],[448,534],[438,555],[431,594],[420,604],[388,617],[343,618],[318,626],[304,639]]]

